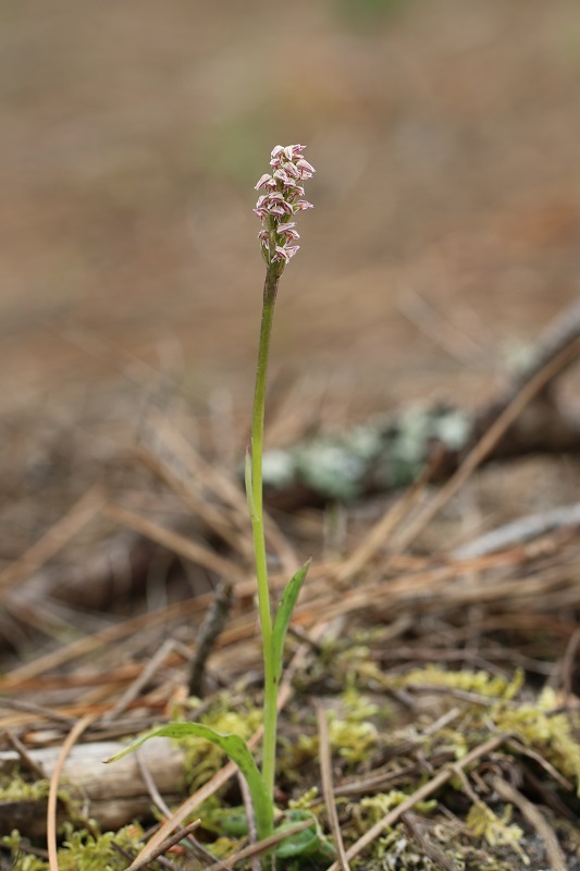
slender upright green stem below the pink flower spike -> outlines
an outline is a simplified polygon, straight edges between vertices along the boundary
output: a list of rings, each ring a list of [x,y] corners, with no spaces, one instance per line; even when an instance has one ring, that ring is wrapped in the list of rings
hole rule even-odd
[[[258,581],[258,610],[263,645],[264,701],[263,701],[263,743],[262,775],[269,795],[274,796],[274,766],[277,729],[277,679],[272,657],[272,612],[270,610],[270,589],[268,586],[268,564],[266,554],[266,532],[263,526],[262,499],[262,450],[263,421],[266,408],[266,381],[268,377],[268,359],[270,355],[270,338],[281,269],[279,265],[269,265],[263,289],[262,322],[260,345],[258,351],[258,368],[256,371],[256,390],[251,416],[251,528],[254,532],[254,551],[256,554],[256,577]]]

